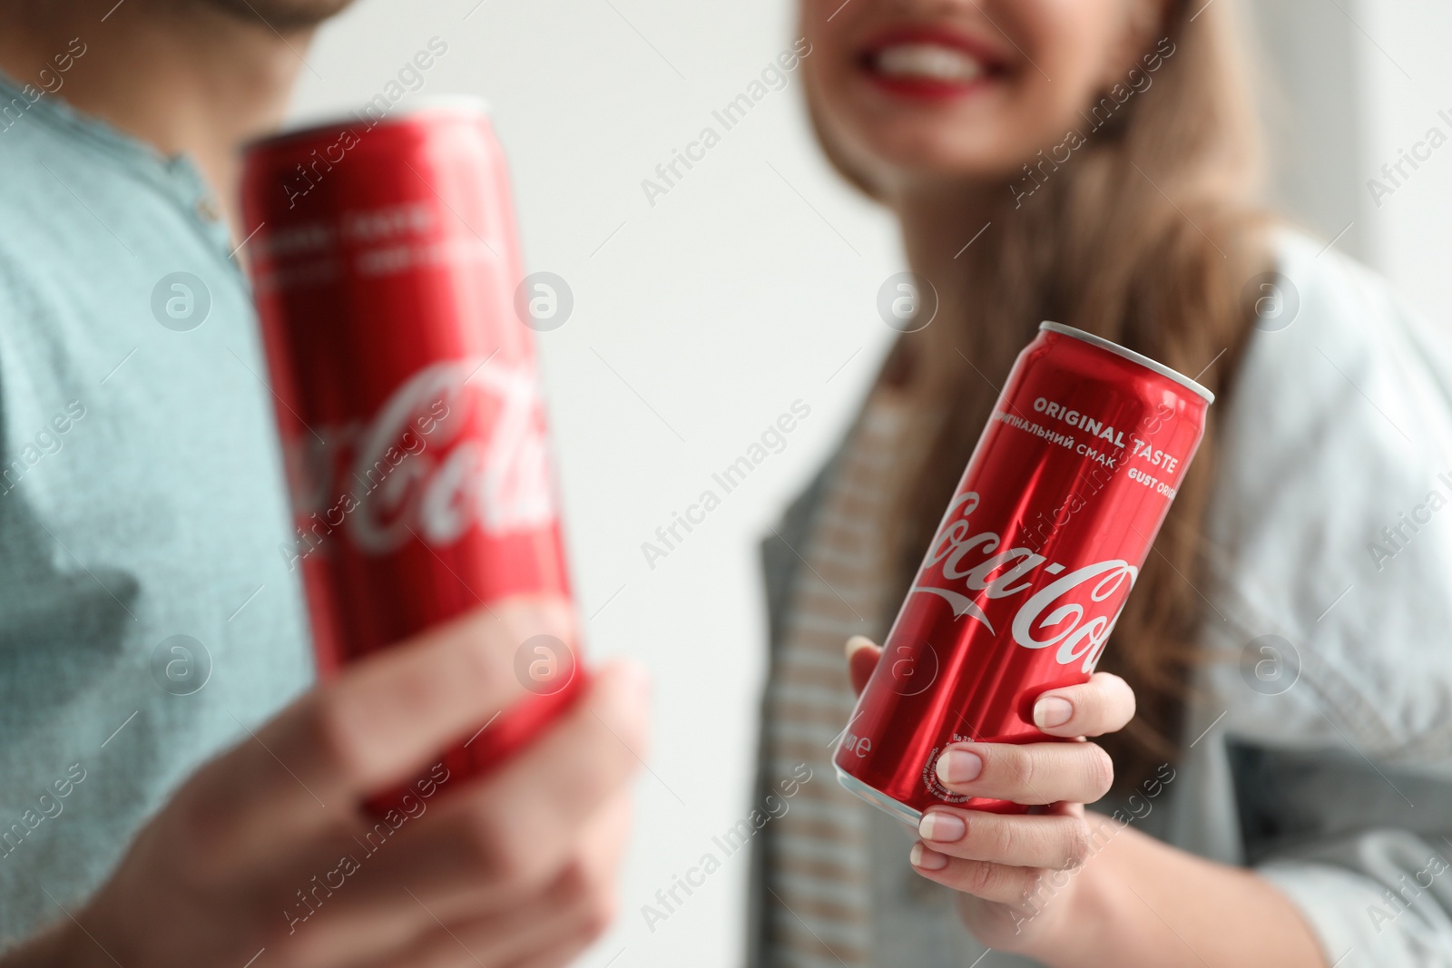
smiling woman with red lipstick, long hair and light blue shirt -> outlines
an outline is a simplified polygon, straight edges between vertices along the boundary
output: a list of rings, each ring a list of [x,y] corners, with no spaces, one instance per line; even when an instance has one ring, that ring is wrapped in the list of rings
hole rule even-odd
[[[767,546],[762,791],[813,779],[758,836],[754,964],[1452,964],[1452,357],[1257,208],[1231,0],[803,4],[817,135],[925,299]],[[1101,672],[1035,707],[1099,739],[937,763],[1051,805],[909,830],[832,779],[877,660],[841,641],[886,631],[1041,319],[1220,399]]]

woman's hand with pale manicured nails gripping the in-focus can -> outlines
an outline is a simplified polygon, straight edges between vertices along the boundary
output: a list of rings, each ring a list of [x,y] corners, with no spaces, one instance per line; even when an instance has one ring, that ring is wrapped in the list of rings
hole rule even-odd
[[[881,649],[862,637],[847,643],[858,692]],[[1134,692],[1119,676],[1096,672],[1089,682],[1044,692],[1034,721],[1050,736],[1082,739],[1124,729]],[[1109,791],[1114,765],[1093,743],[954,743],[937,763],[938,779],[970,797],[1011,800],[1031,814],[932,807],[918,827],[913,869],[957,891],[967,927],[983,943],[1028,951],[1056,933],[1072,908],[1074,874],[1112,821],[1085,817],[1083,804]],[[1101,834],[1102,836],[1102,834]],[[1054,874],[1060,872],[1060,874]]]

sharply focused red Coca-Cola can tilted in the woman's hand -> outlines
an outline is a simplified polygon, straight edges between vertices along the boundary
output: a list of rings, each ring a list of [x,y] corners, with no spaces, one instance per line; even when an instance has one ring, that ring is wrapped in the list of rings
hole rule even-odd
[[[838,743],[844,787],[912,824],[934,804],[1027,810],[950,792],[938,756],[1050,739],[1034,702],[1093,672],[1212,401],[1138,353],[1040,327]]]

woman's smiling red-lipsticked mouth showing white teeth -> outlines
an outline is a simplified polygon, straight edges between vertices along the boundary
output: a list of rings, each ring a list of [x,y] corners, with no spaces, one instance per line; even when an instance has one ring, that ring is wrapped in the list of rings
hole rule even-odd
[[[883,90],[925,99],[963,96],[1003,71],[987,45],[938,26],[886,30],[864,48],[860,62]]]

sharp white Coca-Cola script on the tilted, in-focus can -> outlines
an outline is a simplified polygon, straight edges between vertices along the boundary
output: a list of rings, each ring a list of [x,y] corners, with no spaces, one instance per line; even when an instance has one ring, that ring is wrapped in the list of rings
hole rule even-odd
[[[954,618],[968,617],[995,636],[1008,631],[1025,649],[1054,647],[1060,665],[1082,662],[1092,672],[1140,569],[1112,559],[1066,572],[1032,549],[1003,549],[1002,536],[973,530],[968,518],[979,504],[973,491],[954,498],[909,595],[937,595]],[[1003,623],[1008,610],[993,602],[1029,592],[1037,573],[1056,578]]]

